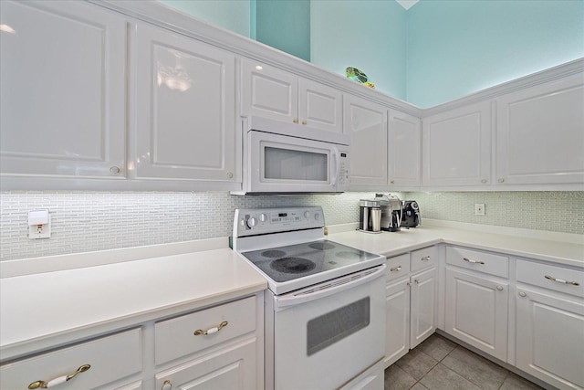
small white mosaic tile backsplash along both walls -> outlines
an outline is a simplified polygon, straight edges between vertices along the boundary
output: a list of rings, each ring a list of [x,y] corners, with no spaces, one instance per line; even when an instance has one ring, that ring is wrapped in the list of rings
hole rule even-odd
[[[423,218],[584,235],[584,192],[397,193]],[[2,192],[0,260],[231,235],[235,208],[320,205],[327,225],[357,222],[369,193],[235,196],[227,192]],[[474,204],[485,216],[474,216]],[[27,212],[48,209],[52,236],[27,237]]]

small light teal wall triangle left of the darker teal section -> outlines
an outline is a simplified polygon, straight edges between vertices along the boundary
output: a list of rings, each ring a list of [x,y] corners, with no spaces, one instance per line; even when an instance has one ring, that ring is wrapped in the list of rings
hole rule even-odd
[[[250,0],[158,0],[245,37],[250,37]]]

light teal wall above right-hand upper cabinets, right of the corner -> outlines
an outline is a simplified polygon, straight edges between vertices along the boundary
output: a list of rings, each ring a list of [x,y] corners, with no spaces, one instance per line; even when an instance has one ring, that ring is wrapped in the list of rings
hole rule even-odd
[[[582,0],[421,0],[407,13],[407,101],[431,107],[584,57]]]

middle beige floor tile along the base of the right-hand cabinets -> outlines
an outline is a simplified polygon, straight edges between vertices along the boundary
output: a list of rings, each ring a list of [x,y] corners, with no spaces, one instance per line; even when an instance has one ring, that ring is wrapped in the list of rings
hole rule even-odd
[[[461,346],[448,354],[442,364],[484,390],[497,390],[508,374],[505,368]]]

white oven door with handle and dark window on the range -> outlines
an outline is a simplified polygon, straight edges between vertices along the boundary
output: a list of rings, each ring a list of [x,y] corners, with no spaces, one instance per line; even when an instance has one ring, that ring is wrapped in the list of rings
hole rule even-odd
[[[267,388],[336,389],[385,353],[385,265],[268,300]]]

